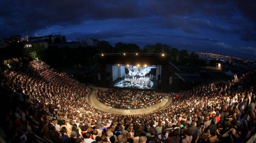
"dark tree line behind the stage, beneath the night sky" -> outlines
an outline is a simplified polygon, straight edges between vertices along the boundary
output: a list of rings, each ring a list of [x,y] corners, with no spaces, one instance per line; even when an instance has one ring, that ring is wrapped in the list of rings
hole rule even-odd
[[[57,40],[56,40],[57,41]],[[159,53],[171,54],[174,58],[170,61],[175,65],[192,65],[206,66],[204,60],[201,60],[198,54],[188,53],[187,50],[178,50],[175,47],[156,43],[155,45],[145,45],[142,49],[134,43],[117,42],[115,46],[110,45],[107,41],[99,41],[95,47],[48,47],[45,49],[43,45],[32,44],[31,48],[24,48],[24,43],[10,43],[6,48],[0,49],[2,59],[23,58],[24,56],[32,59],[40,59],[53,67],[63,68],[72,67],[74,65],[86,66],[97,62],[93,59],[95,54],[101,53]]]

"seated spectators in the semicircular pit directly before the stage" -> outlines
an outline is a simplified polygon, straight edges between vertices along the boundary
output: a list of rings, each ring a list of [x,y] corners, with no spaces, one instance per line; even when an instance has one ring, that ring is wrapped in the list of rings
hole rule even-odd
[[[135,91],[110,88],[108,90],[96,90],[97,99],[112,108],[140,109],[153,106],[164,100],[165,95],[155,94],[155,91]]]

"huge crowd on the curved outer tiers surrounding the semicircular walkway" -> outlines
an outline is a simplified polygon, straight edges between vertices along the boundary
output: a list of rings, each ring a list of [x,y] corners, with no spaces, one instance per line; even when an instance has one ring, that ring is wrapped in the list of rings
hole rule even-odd
[[[255,134],[255,83],[247,72],[194,87],[160,111],[117,115],[90,106],[89,87],[34,61],[3,73],[2,88],[18,101],[1,109],[1,134],[11,143],[37,142],[30,131],[54,143],[246,142]]]

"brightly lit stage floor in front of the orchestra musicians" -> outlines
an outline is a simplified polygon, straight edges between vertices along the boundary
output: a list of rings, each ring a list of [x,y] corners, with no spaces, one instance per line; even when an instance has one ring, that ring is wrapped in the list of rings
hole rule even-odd
[[[141,86],[138,84],[131,84],[124,82],[124,78],[119,78],[115,80],[111,87],[117,87],[117,88],[129,88],[129,89],[157,89],[158,88],[158,81],[157,80],[151,80],[150,81],[150,87],[149,86]]]

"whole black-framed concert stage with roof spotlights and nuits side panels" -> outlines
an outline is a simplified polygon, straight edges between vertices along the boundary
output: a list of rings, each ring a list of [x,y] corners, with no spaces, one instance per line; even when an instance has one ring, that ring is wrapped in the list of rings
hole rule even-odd
[[[179,85],[174,82],[177,78],[169,66],[170,54],[110,53],[97,56],[98,65],[93,77],[95,86],[172,91]],[[127,80],[135,77],[137,80]]]

